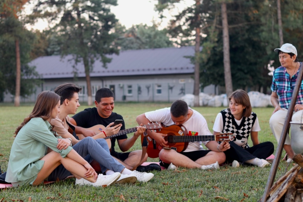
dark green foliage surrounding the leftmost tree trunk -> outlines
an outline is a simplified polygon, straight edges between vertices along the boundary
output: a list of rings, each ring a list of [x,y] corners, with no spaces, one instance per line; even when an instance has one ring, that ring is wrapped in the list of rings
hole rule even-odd
[[[16,88],[16,52],[15,40],[19,40],[21,60],[21,90],[20,96],[26,97],[35,92],[35,87],[41,83],[34,67],[30,62],[30,52],[33,48],[35,35],[24,29],[22,22],[14,17],[0,18],[0,101],[4,92],[15,95]]]

